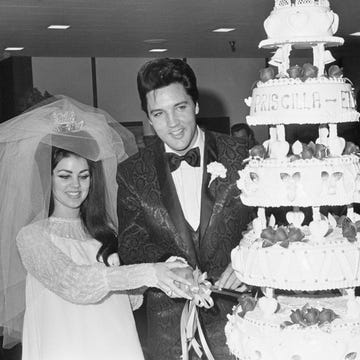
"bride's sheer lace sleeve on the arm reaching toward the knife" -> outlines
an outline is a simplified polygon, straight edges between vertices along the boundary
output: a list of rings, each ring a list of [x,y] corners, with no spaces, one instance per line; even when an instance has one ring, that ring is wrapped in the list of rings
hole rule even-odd
[[[153,264],[109,268],[102,263],[77,265],[50,239],[41,226],[23,228],[17,246],[26,270],[67,301],[96,303],[110,291],[156,286]]]

